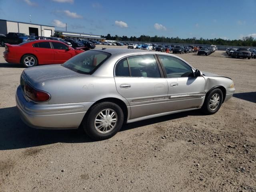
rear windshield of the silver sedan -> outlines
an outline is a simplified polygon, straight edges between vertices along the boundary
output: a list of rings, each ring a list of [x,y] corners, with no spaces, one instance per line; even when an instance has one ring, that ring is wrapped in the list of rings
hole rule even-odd
[[[109,57],[109,53],[89,50],[67,60],[62,66],[78,73],[92,74]]]

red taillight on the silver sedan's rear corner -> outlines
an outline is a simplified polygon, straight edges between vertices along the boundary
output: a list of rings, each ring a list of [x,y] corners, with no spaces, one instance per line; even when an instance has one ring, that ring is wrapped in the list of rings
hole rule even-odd
[[[26,96],[28,96],[31,100],[36,102],[45,102],[51,98],[50,94],[44,91],[36,90],[28,84],[24,86],[24,92]]]

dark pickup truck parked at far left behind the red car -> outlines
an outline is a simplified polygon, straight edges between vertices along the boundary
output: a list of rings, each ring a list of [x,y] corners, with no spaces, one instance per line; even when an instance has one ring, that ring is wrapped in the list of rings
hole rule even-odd
[[[24,33],[8,33],[5,36],[0,36],[0,45],[4,47],[5,43],[20,44],[28,41],[28,36]]]

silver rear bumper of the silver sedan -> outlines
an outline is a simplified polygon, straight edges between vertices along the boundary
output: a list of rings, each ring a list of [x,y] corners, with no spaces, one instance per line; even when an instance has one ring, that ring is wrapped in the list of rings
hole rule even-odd
[[[25,99],[21,86],[16,91],[16,105],[20,117],[32,128],[76,129],[93,103],[36,104]]]

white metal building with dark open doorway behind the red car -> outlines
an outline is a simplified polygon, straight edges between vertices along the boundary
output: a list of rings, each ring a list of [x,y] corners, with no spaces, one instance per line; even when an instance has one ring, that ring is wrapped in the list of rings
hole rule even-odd
[[[31,36],[50,37],[51,35],[54,35],[54,30],[54,26],[0,19],[0,34],[8,34],[9,32],[14,32],[24,33]]]

